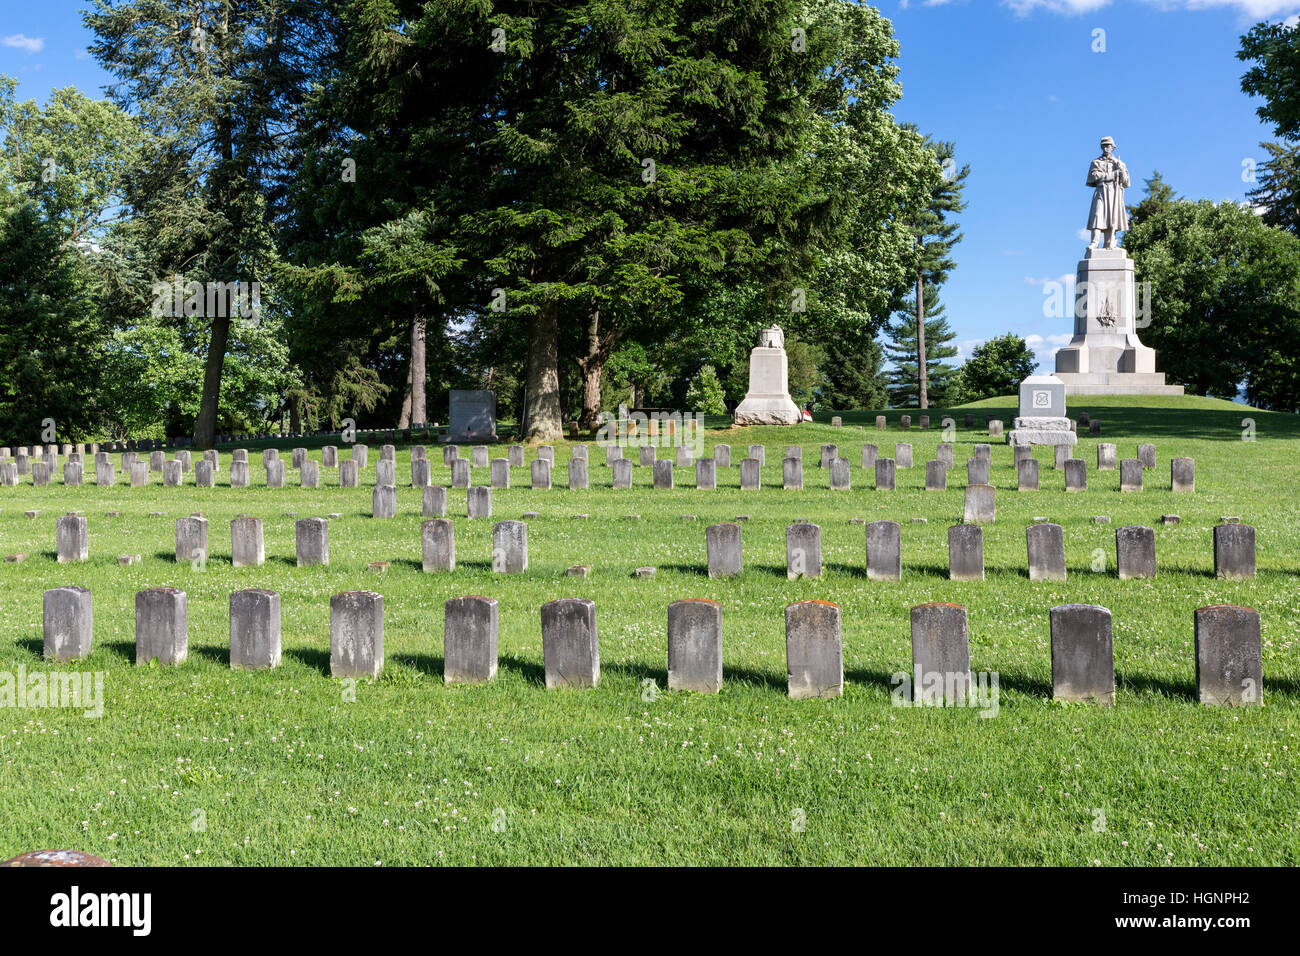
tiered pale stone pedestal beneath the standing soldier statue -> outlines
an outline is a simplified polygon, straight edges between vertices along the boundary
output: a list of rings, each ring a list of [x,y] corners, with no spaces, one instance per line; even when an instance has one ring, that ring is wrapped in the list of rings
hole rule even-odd
[[[1122,248],[1089,248],[1075,272],[1074,338],[1057,351],[1056,377],[1071,395],[1180,395],[1138,339],[1134,263]],[[1150,303],[1144,303],[1148,308]]]

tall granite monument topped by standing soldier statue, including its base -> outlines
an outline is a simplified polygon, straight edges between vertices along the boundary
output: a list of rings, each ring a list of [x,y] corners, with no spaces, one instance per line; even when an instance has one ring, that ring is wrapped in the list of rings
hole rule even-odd
[[[1088,168],[1092,243],[1075,271],[1074,337],[1057,351],[1056,377],[1071,395],[1180,395],[1183,386],[1166,385],[1165,373],[1156,371],[1156,350],[1138,339],[1134,263],[1115,241],[1115,233],[1128,228],[1128,169],[1114,151],[1114,140],[1105,137],[1101,156]],[[1144,306],[1150,308],[1150,302]]]

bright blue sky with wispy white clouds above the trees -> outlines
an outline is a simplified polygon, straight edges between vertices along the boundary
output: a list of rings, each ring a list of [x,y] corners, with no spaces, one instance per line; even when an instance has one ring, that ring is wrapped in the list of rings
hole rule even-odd
[[[0,14],[0,73],[20,99],[109,82],[86,53],[82,4]],[[962,355],[1004,332],[1050,368],[1067,319],[1044,317],[1046,281],[1072,281],[1097,142],[1114,137],[1136,202],[1158,169],[1180,195],[1242,200],[1243,160],[1271,139],[1242,92],[1239,36],[1300,0],[883,0],[901,44],[896,113],[970,164],[965,239],[944,287]],[[1105,52],[1096,30],[1104,30]],[[1140,277],[1139,277],[1140,278]],[[1067,299],[1069,300],[1069,299]]]

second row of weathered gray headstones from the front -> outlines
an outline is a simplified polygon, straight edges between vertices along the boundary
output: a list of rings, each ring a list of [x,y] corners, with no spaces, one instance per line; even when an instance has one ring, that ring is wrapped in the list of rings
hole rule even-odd
[[[376,489],[378,493],[381,489]],[[476,514],[471,489],[469,518]],[[1214,575],[1225,579],[1253,578],[1254,528],[1228,523],[1214,527]],[[1031,581],[1063,581],[1066,579],[1065,531],[1060,524],[1041,522],[1024,529],[1027,567]],[[420,527],[422,567],[425,571],[452,571],[456,566],[455,523],[434,518]],[[303,518],[295,524],[295,546],[299,567],[329,564],[329,520]],[[55,548],[60,562],[81,562],[90,557],[90,535],[84,515],[62,515],[55,523]],[[711,524],[705,532],[706,562],[710,578],[727,578],[744,570],[740,524]],[[176,523],[176,559],[192,562],[209,554],[208,519],[202,515],[179,518]],[[230,522],[230,555],[234,567],[256,567],[265,562],[266,549],[260,518],[240,516]],[[785,529],[786,576],[819,578],[822,575],[822,528],[810,522],[797,522]],[[507,520],[493,525],[493,570],[519,574],[528,570],[528,524]],[[984,529],[979,524],[954,524],[948,529],[948,570],[952,580],[984,579]],[[1156,576],[1156,532],[1145,525],[1115,529],[1115,570],[1122,580]],[[866,525],[866,571],[871,580],[902,578],[902,527],[898,522],[879,520]]]

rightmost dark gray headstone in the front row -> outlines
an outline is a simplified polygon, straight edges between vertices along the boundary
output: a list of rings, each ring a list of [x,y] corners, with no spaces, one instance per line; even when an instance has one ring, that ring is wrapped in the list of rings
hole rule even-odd
[[[1196,691],[1201,704],[1243,706],[1264,702],[1260,613],[1230,604],[1197,607]]]

